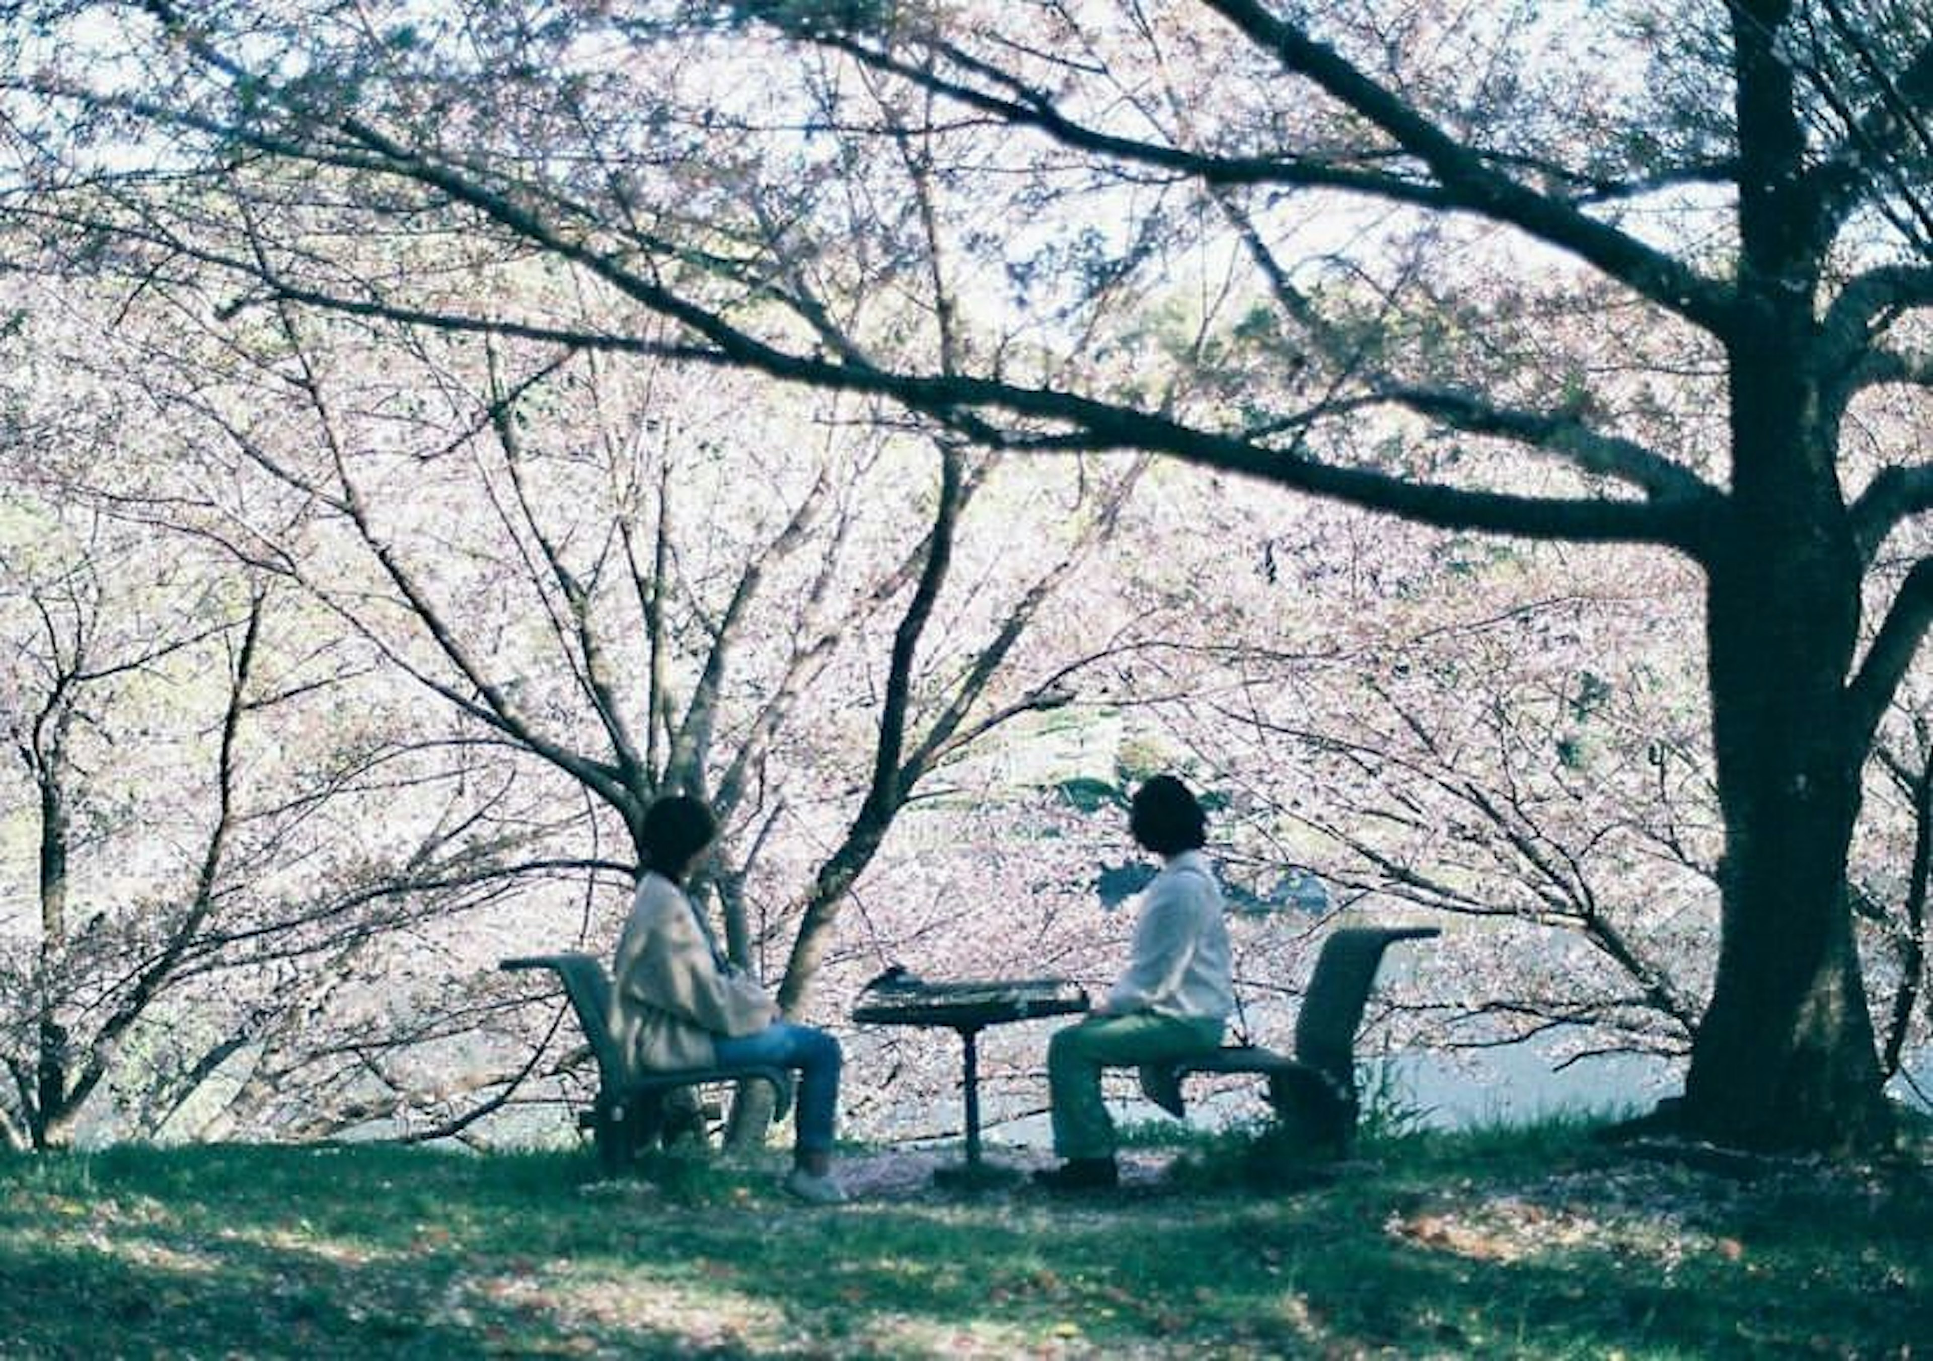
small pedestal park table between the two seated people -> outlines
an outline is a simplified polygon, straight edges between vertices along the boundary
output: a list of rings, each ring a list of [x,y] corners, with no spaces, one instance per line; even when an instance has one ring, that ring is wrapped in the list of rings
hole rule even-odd
[[[980,978],[926,982],[893,967],[866,984],[852,1021],[860,1025],[938,1027],[961,1036],[961,1092],[966,1106],[966,1162],[939,1168],[934,1179],[965,1187],[995,1185],[1015,1173],[980,1156],[980,1030],[990,1025],[1065,1017],[1088,1009],[1088,996],[1067,978]]]

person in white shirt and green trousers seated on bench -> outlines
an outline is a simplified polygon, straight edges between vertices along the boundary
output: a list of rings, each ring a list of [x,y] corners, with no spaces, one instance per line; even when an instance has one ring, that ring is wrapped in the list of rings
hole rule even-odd
[[[1034,1179],[1055,1191],[1119,1183],[1102,1069],[1214,1050],[1235,1011],[1222,887],[1202,854],[1208,816],[1200,802],[1173,775],[1154,775],[1135,791],[1129,831],[1164,864],[1140,895],[1127,970],[1102,1005],[1048,1044],[1053,1152],[1063,1162]]]

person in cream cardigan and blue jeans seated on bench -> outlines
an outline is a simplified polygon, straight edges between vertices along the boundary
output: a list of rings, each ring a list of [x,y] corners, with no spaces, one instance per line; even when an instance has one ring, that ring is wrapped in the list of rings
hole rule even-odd
[[[814,1204],[845,1193],[831,1177],[839,1104],[839,1040],[794,1025],[748,972],[717,947],[711,926],[684,893],[684,876],[717,835],[711,810],[686,795],[644,812],[646,864],[617,941],[611,1028],[640,1069],[773,1063],[798,1069],[793,1170],[785,1189]]]

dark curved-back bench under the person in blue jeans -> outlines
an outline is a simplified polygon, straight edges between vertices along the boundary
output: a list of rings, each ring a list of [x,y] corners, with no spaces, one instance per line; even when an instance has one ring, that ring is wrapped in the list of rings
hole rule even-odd
[[[595,955],[522,955],[499,961],[497,967],[549,969],[563,980],[578,1027],[597,1059],[597,1096],[588,1112],[578,1114],[578,1127],[591,1131],[607,1172],[622,1172],[663,1133],[665,1098],[673,1090],[758,1079],[771,1083],[773,1119],[781,1119],[793,1106],[793,1073],[771,1063],[634,1071],[611,1032],[611,976]]]

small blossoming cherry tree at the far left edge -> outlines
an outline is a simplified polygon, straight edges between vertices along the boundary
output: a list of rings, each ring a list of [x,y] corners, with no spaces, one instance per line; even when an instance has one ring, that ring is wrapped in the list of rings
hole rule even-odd
[[[12,528],[27,505],[15,489]],[[31,891],[10,895],[0,940],[0,1129],[31,1148],[89,1121],[274,1129],[269,1104],[340,1077],[329,1050],[354,1027],[317,1023],[331,998],[392,965],[394,934],[487,899],[489,854],[418,824],[387,858],[439,775],[402,746],[296,740],[294,711],[348,684],[327,650],[292,655],[271,601],[228,592],[220,570],[162,565],[99,512],[68,532],[64,514],[41,507],[31,541],[10,534],[0,576],[8,802],[21,796],[15,825],[31,827],[10,851]],[[298,769],[271,756],[290,748]],[[375,796],[390,835],[338,839]]]

